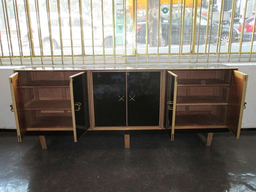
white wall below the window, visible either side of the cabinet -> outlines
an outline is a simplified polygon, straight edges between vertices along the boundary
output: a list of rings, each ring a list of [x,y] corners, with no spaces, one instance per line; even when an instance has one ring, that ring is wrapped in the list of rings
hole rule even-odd
[[[229,65],[238,67],[239,71],[249,75],[242,128],[256,128],[256,63]],[[9,107],[12,99],[8,77],[13,74],[13,69],[18,67],[20,66],[0,66],[0,129],[15,129],[14,114]]]

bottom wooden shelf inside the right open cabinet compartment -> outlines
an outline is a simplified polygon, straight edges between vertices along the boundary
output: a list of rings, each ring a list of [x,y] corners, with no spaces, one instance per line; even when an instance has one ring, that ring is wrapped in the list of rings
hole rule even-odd
[[[216,115],[177,115],[175,129],[227,128]]]

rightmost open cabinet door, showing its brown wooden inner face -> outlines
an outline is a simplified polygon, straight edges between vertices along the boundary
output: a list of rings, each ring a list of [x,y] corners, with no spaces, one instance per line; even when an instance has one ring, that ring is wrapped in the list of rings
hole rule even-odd
[[[248,75],[239,71],[233,71],[227,125],[237,139],[240,138],[247,79]]]

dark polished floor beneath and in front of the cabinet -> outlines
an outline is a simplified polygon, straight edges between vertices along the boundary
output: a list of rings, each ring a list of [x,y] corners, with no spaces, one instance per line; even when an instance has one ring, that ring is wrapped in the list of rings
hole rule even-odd
[[[4,192],[252,192],[256,191],[256,131],[215,133],[211,147],[197,134],[38,136],[17,142],[0,132],[0,191]]]

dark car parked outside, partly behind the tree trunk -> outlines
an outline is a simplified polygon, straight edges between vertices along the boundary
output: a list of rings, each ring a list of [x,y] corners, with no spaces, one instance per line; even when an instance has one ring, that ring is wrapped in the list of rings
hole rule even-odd
[[[198,42],[198,32],[199,32],[199,22],[200,15],[197,15],[197,30],[196,30],[196,44]],[[163,20],[162,24],[162,37],[165,42],[165,46],[168,46],[169,43],[169,21]],[[218,37],[218,23],[212,21],[211,27],[211,35],[210,35],[210,25],[211,21],[209,21],[208,27],[208,41],[209,36],[211,36],[210,43],[214,44],[217,42]],[[179,45],[180,44],[180,18],[172,18],[172,34],[171,34],[171,44]],[[207,30],[207,18],[201,16],[200,22],[200,35],[199,35],[199,44],[205,44],[206,40],[206,30]],[[229,31],[230,27],[223,25],[222,33],[221,33],[221,44],[227,44],[229,42]],[[146,22],[137,23],[137,42],[145,43],[146,42]],[[186,17],[184,19],[184,30],[183,30],[183,45],[190,44],[190,36],[191,36],[191,18]],[[240,38],[239,31],[237,29],[233,29],[232,42],[238,42]]]

